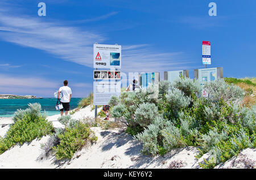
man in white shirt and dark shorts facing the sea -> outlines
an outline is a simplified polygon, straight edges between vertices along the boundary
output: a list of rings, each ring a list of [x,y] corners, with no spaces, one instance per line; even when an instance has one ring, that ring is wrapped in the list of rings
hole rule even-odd
[[[63,96],[60,98],[60,92],[62,92]],[[65,115],[68,115],[69,111],[69,102],[71,100],[72,91],[71,88],[68,87],[68,81],[64,80],[64,86],[60,87],[58,91],[58,99],[60,98],[60,102],[63,105],[63,109],[60,109],[60,115],[63,115],[63,111],[65,110]]]

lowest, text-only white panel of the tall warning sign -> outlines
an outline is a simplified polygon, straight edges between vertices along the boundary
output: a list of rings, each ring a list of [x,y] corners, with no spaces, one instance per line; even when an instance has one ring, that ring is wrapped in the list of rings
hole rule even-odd
[[[93,82],[93,105],[109,104],[110,98],[120,93],[121,82]]]

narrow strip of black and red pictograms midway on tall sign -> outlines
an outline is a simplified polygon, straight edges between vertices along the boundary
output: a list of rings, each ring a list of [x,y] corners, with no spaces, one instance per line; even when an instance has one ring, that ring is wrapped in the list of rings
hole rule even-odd
[[[121,80],[121,71],[108,71],[108,70],[94,70],[93,71],[93,79],[96,80]]]

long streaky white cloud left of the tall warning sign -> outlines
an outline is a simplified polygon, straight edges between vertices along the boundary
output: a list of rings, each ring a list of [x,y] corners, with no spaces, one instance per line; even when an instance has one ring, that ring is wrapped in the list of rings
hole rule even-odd
[[[10,16],[1,10],[0,38],[21,46],[45,50],[66,61],[92,66],[92,45],[105,40],[100,33],[59,25],[59,22],[44,22],[30,16]]]

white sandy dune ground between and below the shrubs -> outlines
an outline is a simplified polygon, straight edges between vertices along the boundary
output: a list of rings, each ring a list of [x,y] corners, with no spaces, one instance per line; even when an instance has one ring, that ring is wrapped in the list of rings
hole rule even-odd
[[[99,111],[100,109],[98,109]],[[60,115],[47,117],[53,126],[63,127],[57,121]],[[94,117],[94,110],[87,106],[72,114],[75,119]],[[4,136],[9,125],[10,118],[0,118],[0,135]],[[150,157],[141,154],[142,144],[134,140],[132,136],[124,132],[124,128],[114,130],[102,130],[100,127],[91,128],[98,137],[97,143],[87,145],[76,152],[69,161],[57,161],[53,155],[42,156],[41,144],[47,142],[49,136],[35,139],[31,143],[15,145],[15,147],[0,155],[0,168],[200,168],[199,162],[203,162],[204,155],[196,159],[197,148],[177,148],[166,155]],[[244,149],[238,157],[233,157],[225,164],[216,168],[245,168],[246,164],[256,164],[256,150]]]

